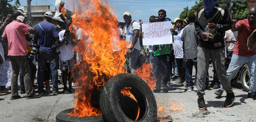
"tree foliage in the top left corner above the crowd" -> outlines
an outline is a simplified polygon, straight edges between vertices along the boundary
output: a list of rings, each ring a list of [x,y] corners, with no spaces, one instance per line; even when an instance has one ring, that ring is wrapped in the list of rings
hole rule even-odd
[[[0,16],[6,16],[7,14],[13,14],[13,11],[17,10],[20,6],[19,0],[14,0],[14,5],[11,5],[10,2],[13,0],[0,0]]]

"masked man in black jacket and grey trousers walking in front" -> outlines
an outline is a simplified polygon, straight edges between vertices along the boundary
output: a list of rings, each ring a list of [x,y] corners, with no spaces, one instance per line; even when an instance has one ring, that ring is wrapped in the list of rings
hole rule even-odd
[[[225,44],[223,33],[231,28],[231,19],[228,8],[216,3],[214,0],[204,0],[196,14],[196,33],[199,37],[197,47],[197,103],[199,110],[207,110],[204,101],[205,79],[209,68],[209,59],[216,68],[221,85],[227,92],[224,107],[231,107],[235,96],[226,76],[225,69]],[[205,28],[209,30],[204,32]]]

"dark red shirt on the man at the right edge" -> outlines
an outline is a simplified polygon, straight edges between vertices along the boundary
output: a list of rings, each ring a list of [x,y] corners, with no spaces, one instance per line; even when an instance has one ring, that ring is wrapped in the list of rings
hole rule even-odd
[[[251,24],[248,22],[248,19],[243,19],[238,21],[237,26],[239,26],[238,36],[237,36],[237,42],[234,47],[234,54],[237,54],[238,56],[253,56],[256,54],[255,49],[251,51],[247,47],[247,39],[253,33],[253,31],[256,29],[256,23]]]

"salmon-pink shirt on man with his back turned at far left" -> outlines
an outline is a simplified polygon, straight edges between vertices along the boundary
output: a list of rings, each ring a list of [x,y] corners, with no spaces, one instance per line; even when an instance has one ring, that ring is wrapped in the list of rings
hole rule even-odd
[[[6,26],[2,36],[8,40],[8,56],[27,56],[25,33],[30,29],[26,24],[15,20]]]

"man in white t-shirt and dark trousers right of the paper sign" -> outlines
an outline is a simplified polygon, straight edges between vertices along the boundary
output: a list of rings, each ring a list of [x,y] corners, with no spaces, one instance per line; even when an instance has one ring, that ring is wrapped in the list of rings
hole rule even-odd
[[[185,81],[185,69],[183,66],[183,42],[181,41],[181,35],[183,33],[183,20],[178,19],[175,22],[177,31],[171,30],[174,33],[174,55],[175,64],[179,73],[179,79],[176,83],[183,83]]]

